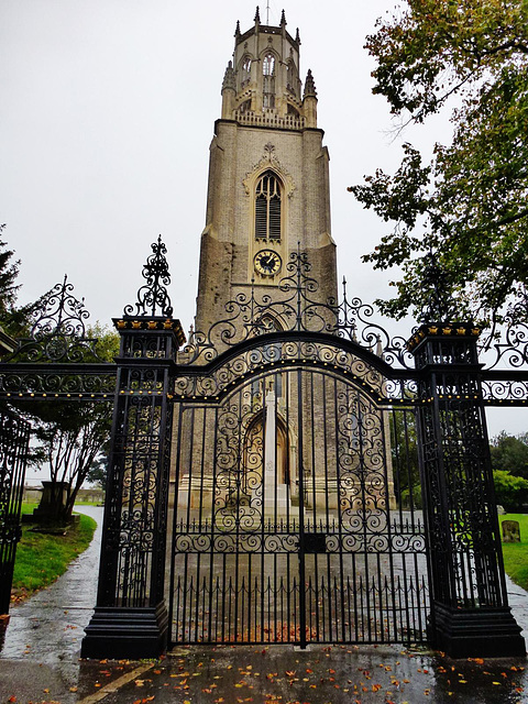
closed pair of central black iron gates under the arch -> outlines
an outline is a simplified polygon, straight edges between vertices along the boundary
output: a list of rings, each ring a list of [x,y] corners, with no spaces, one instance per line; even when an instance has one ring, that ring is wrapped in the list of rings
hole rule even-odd
[[[426,639],[414,410],[377,406],[382,377],[333,344],[288,366],[298,342],[255,346],[220,403],[177,404],[174,644]]]

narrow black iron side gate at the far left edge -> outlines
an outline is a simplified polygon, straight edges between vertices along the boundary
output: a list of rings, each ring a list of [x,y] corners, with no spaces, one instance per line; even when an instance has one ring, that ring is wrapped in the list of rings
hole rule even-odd
[[[0,411],[0,614],[9,612],[30,426]]]

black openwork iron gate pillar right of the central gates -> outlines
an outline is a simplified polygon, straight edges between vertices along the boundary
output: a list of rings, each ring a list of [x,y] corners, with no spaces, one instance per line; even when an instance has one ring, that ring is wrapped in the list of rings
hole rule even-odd
[[[420,372],[430,638],[455,658],[525,654],[506,594],[479,333],[471,323],[430,323],[409,341]]]

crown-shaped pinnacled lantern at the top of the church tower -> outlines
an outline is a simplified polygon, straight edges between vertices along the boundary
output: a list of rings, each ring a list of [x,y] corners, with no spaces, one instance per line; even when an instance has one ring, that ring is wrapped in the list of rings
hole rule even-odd
[[[300,38],[278,26],[262,24],[258,7],[246,32],[237,23],[234,53],[222,85],[222,119],[277,129],[317,128],[317,95],[311,73],[302,97],[299,79]]]

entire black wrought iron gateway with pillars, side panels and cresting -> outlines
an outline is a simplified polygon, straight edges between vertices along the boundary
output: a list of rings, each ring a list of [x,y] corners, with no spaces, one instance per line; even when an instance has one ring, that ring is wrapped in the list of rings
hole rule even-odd
[[[454,657],[524,654],[484,408],[528,403],[526,324],[514,317],[504,340],[490,338],[496,359],[483,367],[481,331],[452,321],[435,267],[422,324],[392,338],[345,292],[339,305],[318,301],[307,255],[294,252],[277,300],[241,292],[226,320],[180,349],[161,239],[152,250],[135,311],[114,319],[117,364],[98,359],[66,278],[0,363],[8,404],[113,397],[82,657],[157,657],[167,640],[416,642],[426,632]],[[18,510],[28,435],[6,432],[9,563],[15,531],[4,519]]]

